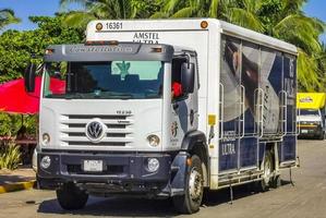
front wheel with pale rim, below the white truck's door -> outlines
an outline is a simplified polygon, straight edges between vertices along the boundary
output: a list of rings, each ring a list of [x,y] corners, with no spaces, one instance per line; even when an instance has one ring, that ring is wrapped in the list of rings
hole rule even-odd
[[[200,210],[204,193],[203,181],[202,160],[197,155],[193,155],[185,178],[184,194],[172,197],[174,208],[182,214],[193,214]],[[194,182],[193,185],[191,185],[192,182]]]

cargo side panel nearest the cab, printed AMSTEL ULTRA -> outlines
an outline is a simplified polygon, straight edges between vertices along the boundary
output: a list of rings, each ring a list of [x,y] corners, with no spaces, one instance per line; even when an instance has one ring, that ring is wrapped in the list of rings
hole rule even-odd
[[[221,72],[222,85],[222,138],[219,145],[219,171],[237,171],[239,165],[239,120],[240,112],[240,40],[222,37]]]

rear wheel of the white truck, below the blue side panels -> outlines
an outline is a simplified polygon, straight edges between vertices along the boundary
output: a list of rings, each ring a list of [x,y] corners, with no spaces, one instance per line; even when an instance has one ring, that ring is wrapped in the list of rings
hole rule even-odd
[[[263,162],[263,170],[264,170],[264,173],[262,175],[262,180],[259,182],[261,184],[261,191],[262,192],[266,192],[269,190],[269,187],[273,187],[274,186],[274,158],[273,158],[273,155],[271,155],[271,152],[270,150],[266,150],[265,153],[265,158],[264,158],[264,162]]]

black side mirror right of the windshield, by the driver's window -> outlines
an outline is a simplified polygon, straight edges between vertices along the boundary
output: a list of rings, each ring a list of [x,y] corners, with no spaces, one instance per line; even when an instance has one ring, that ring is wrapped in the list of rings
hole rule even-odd
[[[194,63],[182,63],[181,65],[181,84],[182,92],[193,93],[195,82],[195,64]]]

